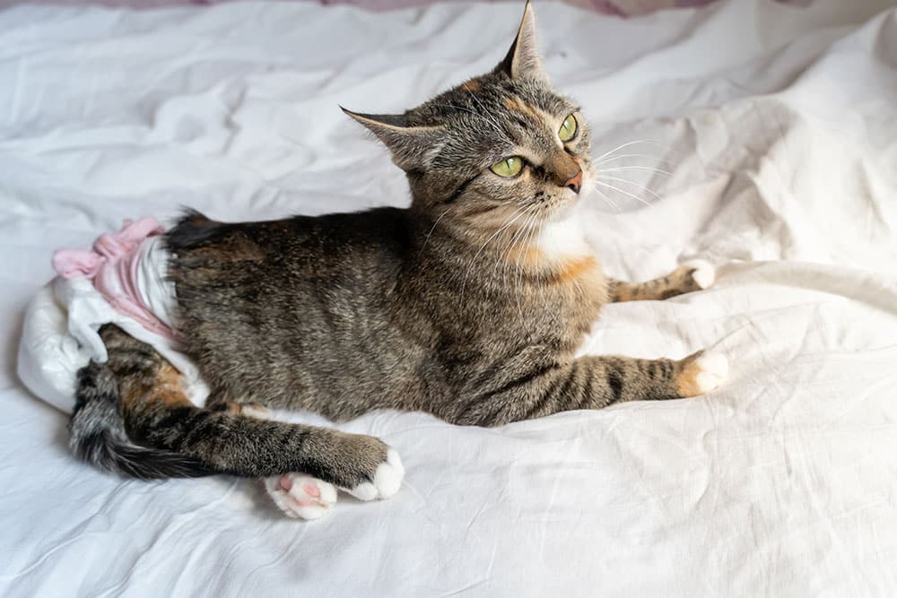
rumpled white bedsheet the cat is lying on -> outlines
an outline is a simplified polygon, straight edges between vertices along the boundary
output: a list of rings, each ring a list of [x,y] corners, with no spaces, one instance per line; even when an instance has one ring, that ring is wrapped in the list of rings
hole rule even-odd
[[[0,594],[897,594],[897,12],[729,0],[620,21],[539,2],[592,118],[609,273],[718,284],[605,309],[585,350],[723,351],[709,396],[501,429],[379,412],[391,500],[287,520],[252,481],[120,481],[67,454],[13,359],[56,247],[189,205],[223,219],[406,202],[337,108],[399,111],[492,67],[522,6],[0,13]],[[877,14],[877,16],[876,16]],[[650,141],[647,141],[650,140]],[[610,170],[623,165],[664,169]],[[305,417],[305,420],[315,420]]]

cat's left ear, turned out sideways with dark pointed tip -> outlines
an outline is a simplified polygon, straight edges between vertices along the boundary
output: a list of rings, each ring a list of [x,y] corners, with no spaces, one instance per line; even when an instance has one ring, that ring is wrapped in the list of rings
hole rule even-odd
[[[359,114],[340,108],[377,135],[392,152],[393,161],[400,169],[426,169],[440,151],[444,131],[438,126],[409,126],[402,114]]]

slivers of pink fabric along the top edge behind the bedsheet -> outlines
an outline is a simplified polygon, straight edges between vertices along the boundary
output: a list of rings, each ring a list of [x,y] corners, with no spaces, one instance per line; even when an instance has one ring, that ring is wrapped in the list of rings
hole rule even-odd
[[[372,11],[388,11],[411,6],[424,6],[447,0],[279,0],[292,2],[318,2],[318,4],[354,4]],[[476,1],[476,0],[475,0]],[[507,2],[512,0],[478,0],[479,2]],[[639,16],[667,8],[702,6],[716,0],[562,0],[566,4],[579,6],[597,13],[614,14],[620,17]],[[778,0],[784,4],[808,4],[812,0]],[[184,4],[222,4],[228,0],[0,0],[0,9],[15,4],[61,4],[83,6],[122,6],[128,8],[158,8]],[[520,0],[522,3],[522,0]]]

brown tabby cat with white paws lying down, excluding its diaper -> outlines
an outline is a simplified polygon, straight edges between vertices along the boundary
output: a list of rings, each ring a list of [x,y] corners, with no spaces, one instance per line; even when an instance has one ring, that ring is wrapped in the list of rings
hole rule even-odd
[[[576,217],[596,176],[588,123],[544,73],[528,2],[491,72],[401,115],[344,112],[405,171],[410,206],[242,223],[187,212],[163,242],[208,402],[190,403],[169,361],[103,325],[109,360],[78,374],[75,455],[138,478],[265,478],[287,515],[314,518],[337,489],[395,494],[401,461],[378,438],[269,420],[269,408],[500,426],[723,382],[726,359],[701,351],[574,359],[606,302],[701,290],[714,272],[602,273]]]

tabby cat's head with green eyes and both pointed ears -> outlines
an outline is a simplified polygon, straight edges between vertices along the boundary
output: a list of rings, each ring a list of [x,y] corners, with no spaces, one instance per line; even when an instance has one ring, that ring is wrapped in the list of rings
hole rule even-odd
[[[387,145],[415,208],[478,230],[552,220],[593,178],[588,125],[544,73],[528,2],[491,72],[401,115],[345,112]]]

